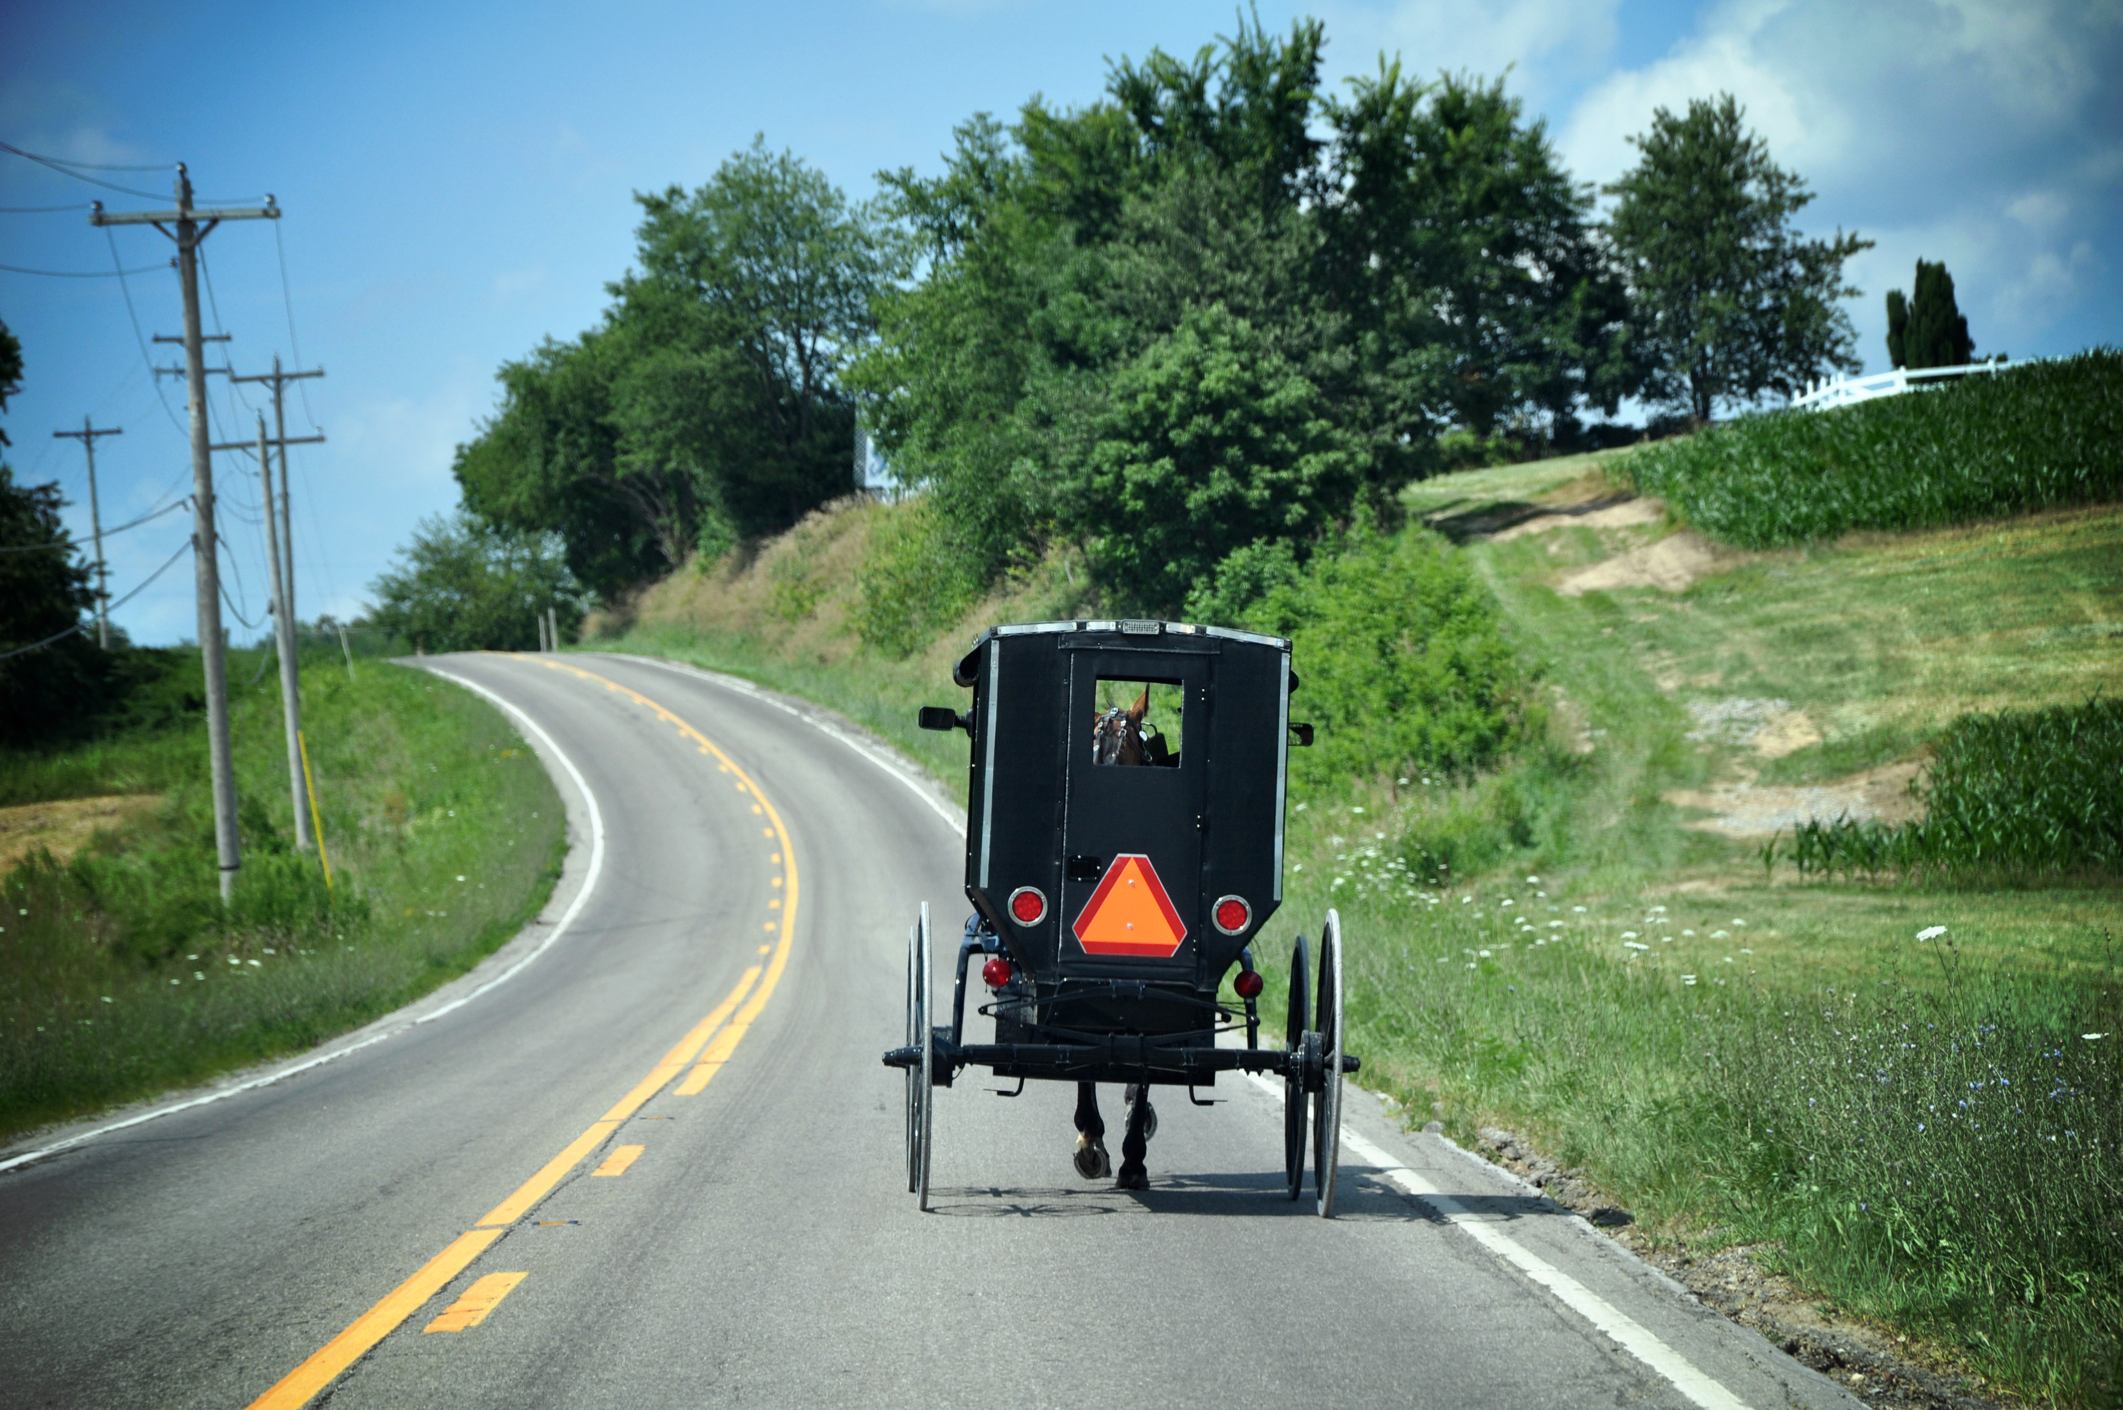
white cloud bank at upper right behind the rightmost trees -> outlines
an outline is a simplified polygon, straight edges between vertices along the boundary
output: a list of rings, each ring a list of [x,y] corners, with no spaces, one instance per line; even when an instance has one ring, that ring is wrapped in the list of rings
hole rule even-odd
[[[1664,57],[1596,81],[1560,123],[1571,170],[1613,180],[1654,108],[1732,93],[1817,193],[1809,231],[1856,229],[1860,357],[1885,365],[1883,295],[1951,270],[1983,348],[2021,350],[2106,297],[2123,202],[2123,6],[2070,0],[1724,0]],[[2083,336],[2083,333],[2081,333]]]

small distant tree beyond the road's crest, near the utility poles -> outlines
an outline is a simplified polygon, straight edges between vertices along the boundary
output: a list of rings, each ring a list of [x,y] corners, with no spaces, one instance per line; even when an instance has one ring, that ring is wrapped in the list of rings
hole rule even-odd
[[[582,622],[584,592],[556,533],[503,529],[459,510],[420,520],[369,590],[369,622],[427,652],[527,652],[537,618]]]

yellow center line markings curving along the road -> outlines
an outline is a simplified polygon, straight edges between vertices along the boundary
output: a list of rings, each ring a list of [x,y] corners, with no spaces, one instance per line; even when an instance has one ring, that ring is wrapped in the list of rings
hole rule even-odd
[[[769,824],[766,835],[781,843],[781,866],[788,883],[783,888],[786,898],[781,900],[779,943],[775,945],[773,958],[766,960],[764,968],[758,964],[747,968],[737,981],[737,987],[730,990],[730,994],[715,1004],[705,1019],[694,1024],[692,1032],[679,1038],[677,1047],[664,1053],[662,1062],[658,1062],[633,1091],[620,1098],[611,1111],[567,1142],[567,1147],[546,1162],[537,1174],[518,1185],[516,1193],[488,1210],[488,1215],[480,1219],[478,1227],[459,1234],[456,1240],[431,1257],[420,1272],[399,1283],[397,1289],[393,1289],[382,1302],[357,1317],[346,1331],[331,1338],[316,1355],[291,1370],[278,1385],[251,1402],[251,1410],[299,1410],[299,1406],[310,1404],[310,1399],[331,1385],[340,1372],[365,1357],[372,1346],[391,1336],[399,1323],[418,1312],[435,1293],[448,1287],[456,1274],[465,1272],[473,1259],[486,1253],[497,1238],[507,1234],[516,1221],[529,1215],[539,1200],[550,1196],[554,1187],[590,1155],[590,1151],[605,1145],[605,1140],[609,1140],[626,1119],[641,1111],[650,1098],[660,1094],[673,1077],[692,1066],[692,1072],[684,1083],[679,1083],[677,1096],[694,1096],[707,1087],[715,1072],[722,1070],[722,1064],[730,1060],[730,1053],[737,1051],[737,1045],[743,1043],[752,1024],[758,1021],[760,1013],[766,1009],[766,1000],[773,998],[775,985],[781,983],[781,970],[788,968],[790,943],[796,936],[796,852],[790,847],[790,835],[781,824],[781,813],[777,813],[775,805],[766,801],[760,786],[752,781],[752,775],[745,773],[735,758],[724,754],[707,735],[692,728],[688,722],[679,720],[639,690],[631,690],[616,680],[599,675],[597,671],[584,671],[582,667],[558,660],[543,660],[537,656],[518,656],[518,660],[537,660],[550,671],[567,671],[580,680],[599,682],[605,690],[624,694],[635,705],[654,711],[660,722],[675,726],[677,733],[694,743],[701,754],[713,756],[724,773],[735,775],[737,790],[752,798],[752,811],[764,815]],[[713,1045],[709,1045],[709,1038],[713,1038]],[[703,1053],[701,1049],[707,1051]],[[507,1287],[514,1287],[514,1283]],[[499,1289],[493,1295],[493,1302],[499,1302],[505,1291],[505,1287]],[[484,1308],[478,1314],[484,1317]],[[471,1323],[476,1321],[478,1317],[471,1319]]]

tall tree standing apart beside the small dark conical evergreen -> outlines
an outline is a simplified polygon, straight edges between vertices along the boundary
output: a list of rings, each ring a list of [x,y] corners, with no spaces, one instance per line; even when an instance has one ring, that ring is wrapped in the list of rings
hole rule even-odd
[[[1650,397],[1707,423],[1720,403],[1798,393],[1830,367],[1858,372],[1839,306],[1843,261],[1870,240],[1807,240],[1792,217],[1805,183],[1747,132],[1730,93],[1652,115],[1607,223],[1635,304]]]

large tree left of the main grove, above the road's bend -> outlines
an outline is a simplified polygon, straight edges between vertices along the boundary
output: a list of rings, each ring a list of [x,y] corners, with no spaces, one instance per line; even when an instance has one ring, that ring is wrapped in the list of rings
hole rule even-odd
[[[454,465],[471,512],[560,533],[603,595],[851,488],[839,361],[900,257],[873,210],[758,142],[637,200],[639,268],[601,325],[505,363]]]

